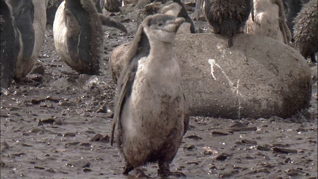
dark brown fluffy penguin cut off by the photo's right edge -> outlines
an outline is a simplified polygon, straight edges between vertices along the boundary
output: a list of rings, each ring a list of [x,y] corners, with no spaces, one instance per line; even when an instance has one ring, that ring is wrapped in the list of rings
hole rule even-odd
[[[300,53],[312,63],[317,63],[318,51],[318,0],[306,3],[295,18],[294,40]]]

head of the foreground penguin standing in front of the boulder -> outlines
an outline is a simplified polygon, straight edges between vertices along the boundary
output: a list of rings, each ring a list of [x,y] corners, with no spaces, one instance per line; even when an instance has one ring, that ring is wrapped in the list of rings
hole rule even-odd
[[[143,21],[144,32],[150,41],[156,39],[166,43],[173,43],[176,32],[182,22],[184,22],[183,17],[165,14],[151,15]]]

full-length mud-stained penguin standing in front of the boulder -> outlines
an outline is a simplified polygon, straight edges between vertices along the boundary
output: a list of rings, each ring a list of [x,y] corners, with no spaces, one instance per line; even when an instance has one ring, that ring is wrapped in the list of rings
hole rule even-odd
[[[124,174],[136,169],[143,176],[142,166],[158,162],[160,176],[184,176],[169,170],[189,122],[173,53],[176,31],[183,21],[164,14],[148,16],[126,56],[129,67],[118,83],[111,135],[112,145],[116,129],[126,162]]]

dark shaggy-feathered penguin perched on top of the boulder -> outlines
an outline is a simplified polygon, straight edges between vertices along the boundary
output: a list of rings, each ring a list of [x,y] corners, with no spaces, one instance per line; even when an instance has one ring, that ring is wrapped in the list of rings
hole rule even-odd
[[[214,33],[221,33],[233,46],[235,33],[241,33],[252,11],[252,0],[198,0]],[[199,13],[200,14],[200,11]],[[197,18],[198,19],[198,18]]]

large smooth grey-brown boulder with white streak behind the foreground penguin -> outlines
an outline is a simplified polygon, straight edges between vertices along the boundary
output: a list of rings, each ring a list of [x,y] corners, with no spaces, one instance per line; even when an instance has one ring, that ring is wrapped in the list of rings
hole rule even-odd
[[[176,37],[190,115],[286,118],[309,107],[311,71],[299,52],[265,36],[238,34],[234,41],[227,48],[217,34]]]

